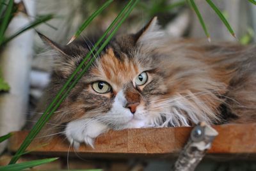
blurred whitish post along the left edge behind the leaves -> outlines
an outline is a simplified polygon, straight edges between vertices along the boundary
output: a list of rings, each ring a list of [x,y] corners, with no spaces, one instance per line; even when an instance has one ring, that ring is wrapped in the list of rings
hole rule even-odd
[[[16,2],[16,1],[15,1]],[[29,15],[35,16],[35,1],[24,0]],[[6,35],[15,33],[29,23],[28,17],[18,13],[8,26]],[[11,89],[0,94],[0,136],[17,131],[24,126],[28,107],[29,73],[33,55],[33,36],[31,29],[8,42],[0,54],[0,68],[4,80]],[[0,144],[0,153],[5,143]]]

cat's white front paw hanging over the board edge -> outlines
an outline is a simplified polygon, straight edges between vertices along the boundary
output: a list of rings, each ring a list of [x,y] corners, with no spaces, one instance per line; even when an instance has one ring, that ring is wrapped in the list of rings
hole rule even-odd
[[[81,119],[68,123],[65,135],[70,144],[78,149],[81,143],[93,147],[94,139],[106,131],[108,131],[108,126],[105,124],[97,123],[92,119]]]

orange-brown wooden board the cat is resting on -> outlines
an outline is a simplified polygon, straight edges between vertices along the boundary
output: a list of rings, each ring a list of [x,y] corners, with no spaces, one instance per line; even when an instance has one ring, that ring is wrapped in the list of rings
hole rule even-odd
[[[225,124],[214,126],[219,135],[212,144],[209,154],[256,154],[256,123]],[[177,156],[192,128],[147,128],[109,131],[95,140],[95,149],[82,144],[79,152],[88,157],[120,156]],[[10,138],[10,151],[17,151],[22,140],[28,135],[26,131],[17,131]],[[74,154],[63,137],[54,137],[48,145],[33,142],[28,151],[35,154],[67,155]]]

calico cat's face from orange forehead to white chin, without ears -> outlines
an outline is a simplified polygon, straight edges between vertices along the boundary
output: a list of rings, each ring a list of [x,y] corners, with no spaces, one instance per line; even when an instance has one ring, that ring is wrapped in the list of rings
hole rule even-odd
[[[165,89],[154,67],[157,60],[138,51],[116,56],[115,48],[110,45],[81,80],[85,86],[77,99],[90,108],[86,117],[115,129],[156,126],[160,118],[150,111],[150,105]]]

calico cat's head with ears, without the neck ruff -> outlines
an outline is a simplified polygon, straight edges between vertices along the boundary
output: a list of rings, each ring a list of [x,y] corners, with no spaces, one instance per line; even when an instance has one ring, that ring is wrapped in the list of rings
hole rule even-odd
[[[153,28],[148,25],[144,29]],[[161,124],[163,108],[152,105],[157,106],[161,95],[166,93],[163,73],[154,50],[141,46],[141,41],[150,41],[148,35],[143,31],[138,34],[117,36],[109,43],[59,108],[65,112],[58,120],[68,123],[94,118],[116,130]],[[79,41],[59,48],[46,41],[58,55],[50,85],[53,91],[67,80],[92,46]]]

